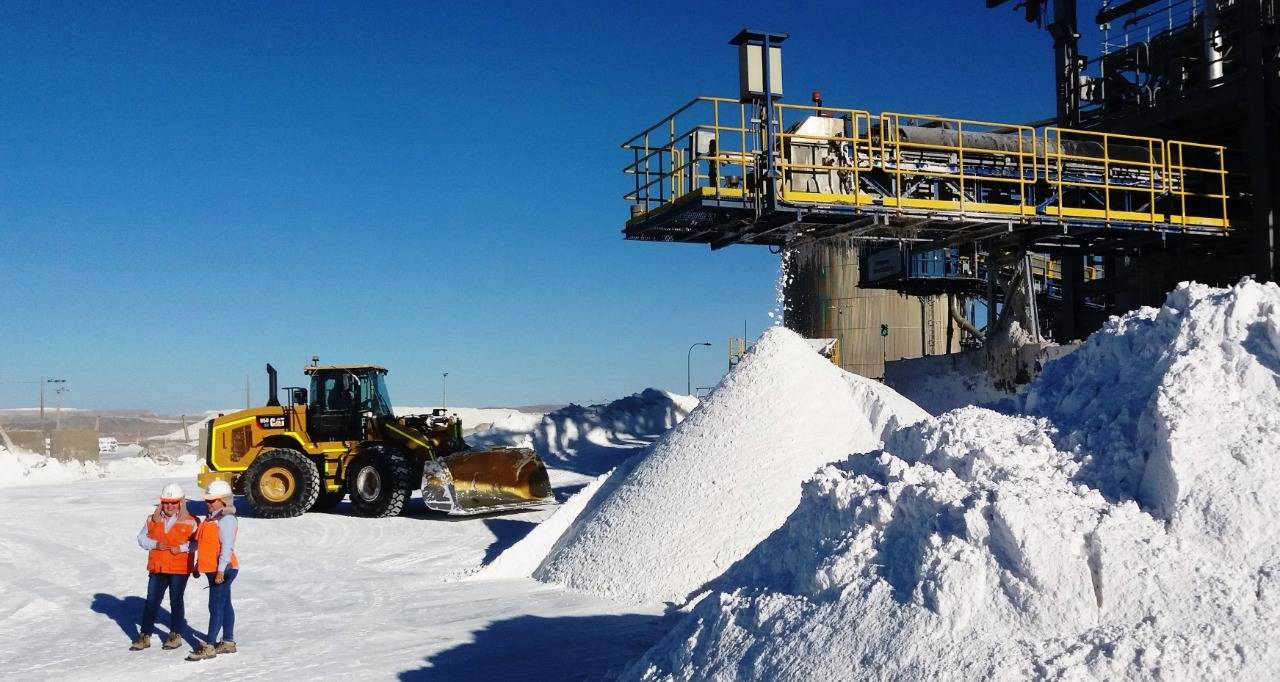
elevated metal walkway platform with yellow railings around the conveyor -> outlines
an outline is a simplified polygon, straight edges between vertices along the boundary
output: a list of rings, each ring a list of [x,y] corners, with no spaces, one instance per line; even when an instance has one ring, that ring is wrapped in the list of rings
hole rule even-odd
[[[782,104],[780,132],[765,136],[753,111],[698,97],[623,143],[627,239],[719,248],[838,234],[1044,250],[1231,228],[1225,150],[1212,145]]]

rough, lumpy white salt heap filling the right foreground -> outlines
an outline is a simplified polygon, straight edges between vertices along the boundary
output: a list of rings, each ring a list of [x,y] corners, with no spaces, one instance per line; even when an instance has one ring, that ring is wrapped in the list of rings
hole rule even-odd
[[[627,676],[1271,678],[1280,288],[1183,285],[826,467]]]

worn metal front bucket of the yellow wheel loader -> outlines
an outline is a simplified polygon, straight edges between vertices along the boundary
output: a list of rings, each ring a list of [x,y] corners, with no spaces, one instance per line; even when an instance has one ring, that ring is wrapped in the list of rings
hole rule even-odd
[[[451,514],[480,514],[556,502],[547,467],[534,450],[460,452],[422,468],[422,500]]]

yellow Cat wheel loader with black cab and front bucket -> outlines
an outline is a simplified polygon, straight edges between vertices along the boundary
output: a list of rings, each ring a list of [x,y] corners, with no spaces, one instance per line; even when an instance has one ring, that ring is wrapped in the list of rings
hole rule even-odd
[[[397,516],[413,490],[431,509],[476,514],[554,502],[547,467],[527,448],[472,450],[457,416],[397,417],[387,370],[375,365],[306,369],[310,392],[266,366],[266,407],[210,420],[200,431],[197,482],[224,480],[266,518],[329,511],[344,496],[360,516]]]

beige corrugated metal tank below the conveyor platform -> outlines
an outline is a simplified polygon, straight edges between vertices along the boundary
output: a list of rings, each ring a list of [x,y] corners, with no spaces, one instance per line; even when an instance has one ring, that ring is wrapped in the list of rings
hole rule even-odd
[[[881,379],[886,358],[948,352],[946,298],[859,289],[858,247],[852,243],[833,239],[803,244],[791,250],[787,261],[786,326],[808,338],[840,339],[845,370]],[[890,329],[883,339],[882,324]],[[959,349],[956,329],[951,352]]]

